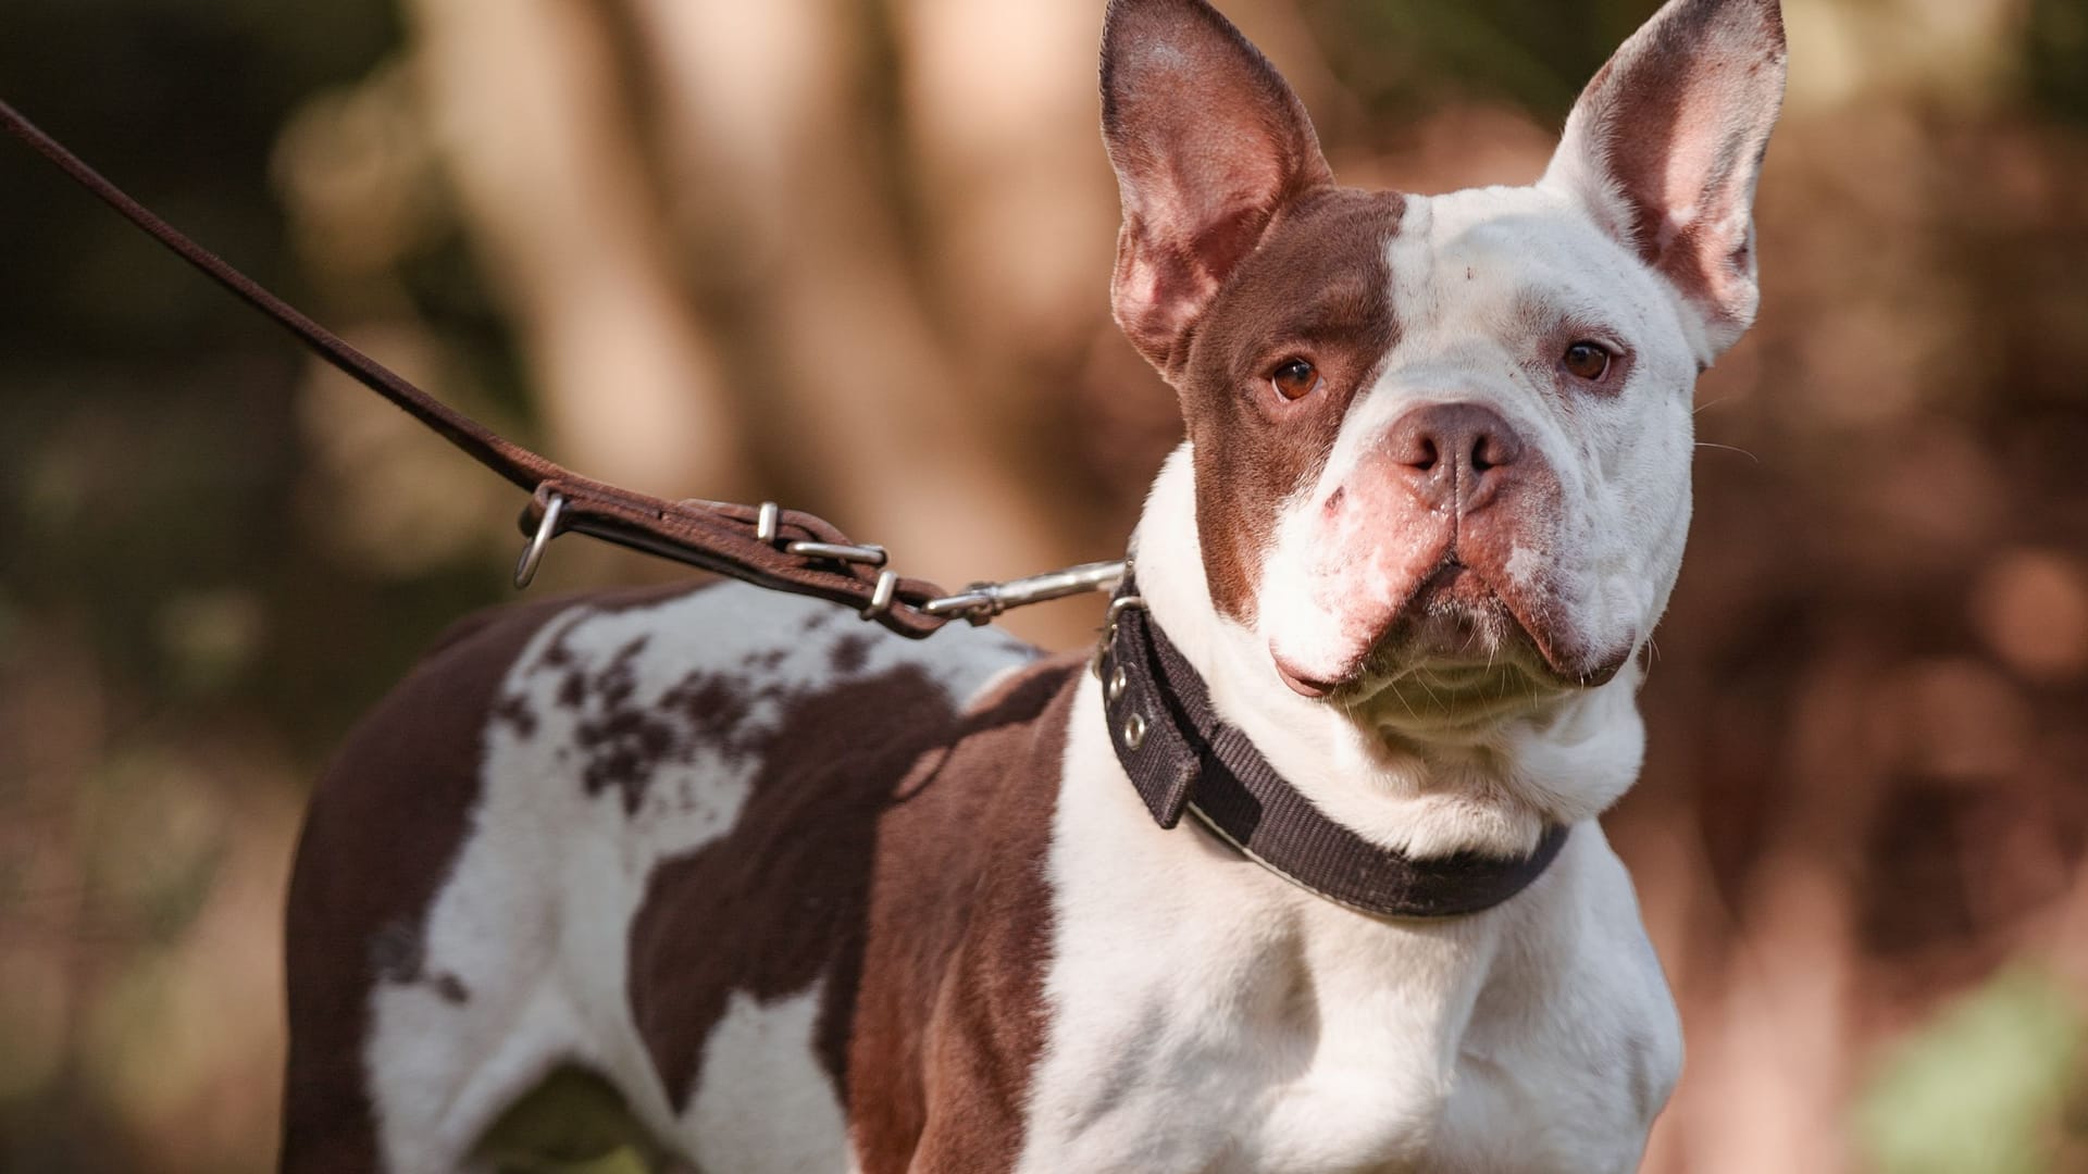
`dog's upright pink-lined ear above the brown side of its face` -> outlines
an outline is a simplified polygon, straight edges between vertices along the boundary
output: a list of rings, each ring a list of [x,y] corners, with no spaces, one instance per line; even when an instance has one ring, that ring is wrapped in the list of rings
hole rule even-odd
[[[1305,104],[1203,0],[1111,0],[1102,138],[1123,192],[1117,324],[1173,372],[1234,265],[1332,173]]]

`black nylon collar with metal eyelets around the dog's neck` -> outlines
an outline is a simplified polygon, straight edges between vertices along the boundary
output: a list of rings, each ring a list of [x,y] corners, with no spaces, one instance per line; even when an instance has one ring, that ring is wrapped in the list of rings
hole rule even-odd
[[[1188,811],[1247,859],[1336,905],[1378,917],[1478,913],[1522,892],[1566,844],[1566,827],[1551,825],[1528,856],[1416,861],[1328,819],[1247,733],[1219,721],[1203,677],[1130,579],[1111,606],[1096,673],[1117,762],[1161,827]]]

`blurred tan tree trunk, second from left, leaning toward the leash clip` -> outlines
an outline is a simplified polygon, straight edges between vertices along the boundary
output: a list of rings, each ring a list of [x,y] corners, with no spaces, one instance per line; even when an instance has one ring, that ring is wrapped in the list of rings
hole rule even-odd
[[[848,0],[631,0],[631,13],[664,171],[691,219],[733,226],[706,257],[733,269],[735,391],[770,468],[912,572],[1000,577],[1065,558],[996,437],[994,368],[938,330],[908,263],[877,13]]]

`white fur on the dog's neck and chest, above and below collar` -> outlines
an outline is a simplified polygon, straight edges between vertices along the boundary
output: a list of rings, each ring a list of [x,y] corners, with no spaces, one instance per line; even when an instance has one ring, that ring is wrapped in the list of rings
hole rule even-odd
[[[1140,591],[1219,710],[1324,811],[1382,842],[1526,850],[1637,771],[1633,683],[1533,717],[1501,773],[1430,773],[1267,671],[1194,558],[1188,451],[1140,524]],[[1052,833],[1050,1038],[1019,1170],[1633,1170],[1681,1028],[1631,879],[1589,817],[1512,902],[1349,913],[1190,825],[1161,831],[1075,700]],[[1136,894],[1136,898],[1128,898]]]

